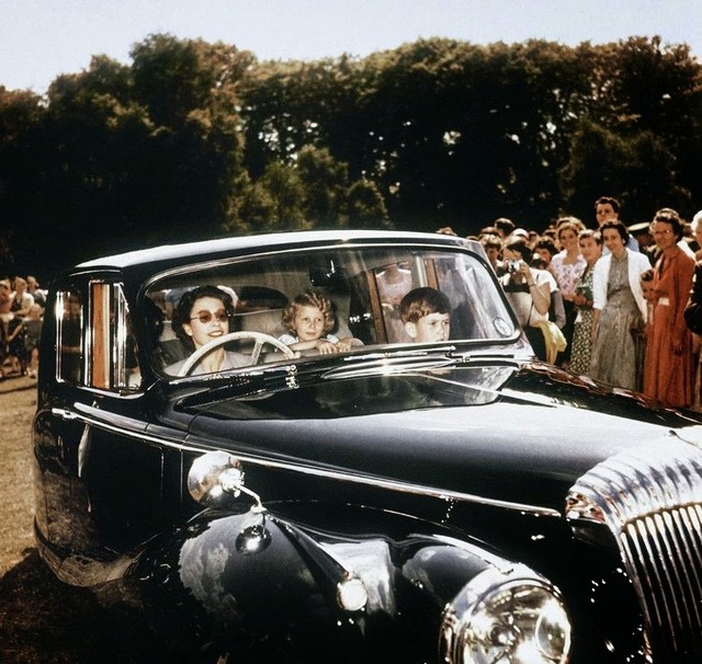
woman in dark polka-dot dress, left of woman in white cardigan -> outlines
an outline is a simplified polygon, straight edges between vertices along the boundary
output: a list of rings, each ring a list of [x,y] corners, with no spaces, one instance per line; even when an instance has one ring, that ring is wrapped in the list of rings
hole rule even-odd
[[[590,353],[592,351],[592,275],[595,264],[602,255],[602,238],[595,230],[582,230],[578,234],[578,245],[585,259],[585,272],[576,283],[573,302],[578,308],[573,332],[570,351],[570,370],[574,374],[588,375]]]

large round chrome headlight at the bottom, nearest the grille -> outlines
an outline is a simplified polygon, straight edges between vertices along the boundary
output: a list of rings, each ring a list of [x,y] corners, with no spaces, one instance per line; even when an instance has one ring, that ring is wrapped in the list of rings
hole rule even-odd
[[[522,565],[482,572],[443,614],[441,654],[451,664],[565,664],[569,651],[556,588]]]

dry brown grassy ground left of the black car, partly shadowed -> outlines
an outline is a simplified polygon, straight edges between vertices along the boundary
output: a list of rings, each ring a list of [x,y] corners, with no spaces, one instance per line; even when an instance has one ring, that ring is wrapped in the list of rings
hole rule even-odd
[[[59,583],[34,547],[31,423],[36,380],[0,380],[0,662],[110,661],[105,611],[83,588]]]

